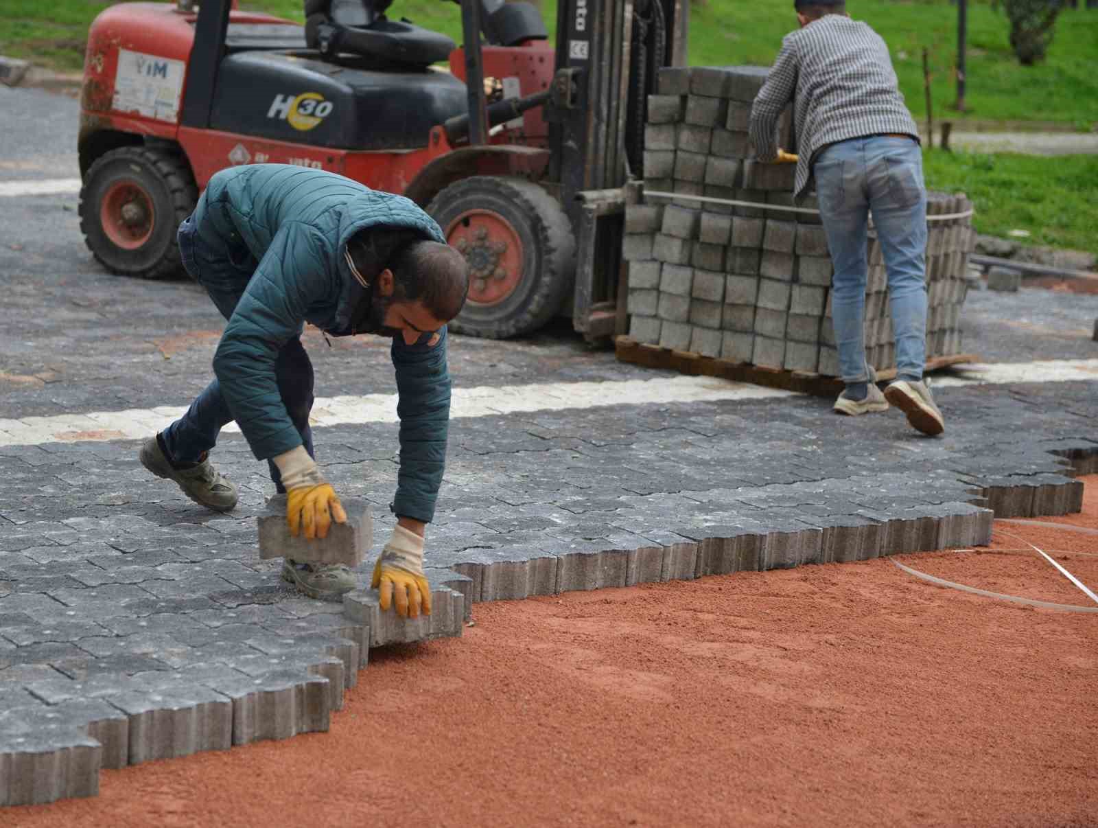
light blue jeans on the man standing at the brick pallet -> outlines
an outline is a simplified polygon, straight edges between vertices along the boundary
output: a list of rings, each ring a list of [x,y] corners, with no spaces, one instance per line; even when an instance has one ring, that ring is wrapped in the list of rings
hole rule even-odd
[[[888,272],[897,379],[918,381],[927,361],[927,190],[911,138],[874,135],[827,147],[813,166],[834,265],[831,316],[843,382],[866,382],[863,325],[867,220],[873,213]]]

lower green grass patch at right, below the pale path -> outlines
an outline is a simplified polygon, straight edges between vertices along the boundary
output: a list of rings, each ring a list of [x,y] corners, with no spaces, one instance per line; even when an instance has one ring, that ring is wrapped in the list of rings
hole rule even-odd
[[[923,165],[927,187],[973,200],[977,232],[1006,237],[1011,230],[1026,230],[1030,236],[1016,240],[1098,255],[1098,156],[931,149]]]

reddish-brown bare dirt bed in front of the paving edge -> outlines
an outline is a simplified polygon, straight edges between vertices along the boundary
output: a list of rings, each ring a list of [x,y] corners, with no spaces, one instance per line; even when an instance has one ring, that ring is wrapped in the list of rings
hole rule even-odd
[[[1084,480],[1086,511],[1066,523],[1098,528],[1098,477]],[[989,551],[904,559],[1084,603],[1010,551],[1024,545],[1008,532],[1098,580],[1085,555],[1098,536],[1053,525],[1001,522]],[[371,653],[328,734],[105,771],[98,798],[5,824],[1047,826],[1098,813],[1093,615],[939,589],[882,559],[474,617],[461,639]]]

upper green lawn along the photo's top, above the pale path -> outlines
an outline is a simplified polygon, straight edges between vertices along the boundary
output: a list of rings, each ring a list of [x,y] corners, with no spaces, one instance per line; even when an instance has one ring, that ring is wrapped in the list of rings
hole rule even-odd
[[[0,0],[0,54],[79,71],[88,26],[110,3],[98,0]],[[244,0],[245,8],[302,20],[302,0]],[[1080,3],[1080,5],[1083,5]],[[541,0],[550,36],[557,0]],[[788,0],[696,0],[691,12],[691,63],[769,65],[782,36],[796,26]],[[922,47],[930,52],[935,118],[981,121],[1056,121],[1078,128],[1098,124],[1098,9],[1065,10],[1047,59],[1020,66],[1008,43],[1005,14],[985,2],[970,3],[968,111],[950,108],[956,99],[956,7],[946,0],[851,0],[851,13],[888,43],[907,104],[926,116]],[[461,15],[452,2],[395,0],[393,16],[406,16],[461,42]]]

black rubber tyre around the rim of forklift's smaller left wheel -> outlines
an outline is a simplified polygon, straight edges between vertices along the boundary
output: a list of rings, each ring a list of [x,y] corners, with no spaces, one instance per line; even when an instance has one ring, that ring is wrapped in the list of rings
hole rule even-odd
[[[86,214],[85,212],[85,194],[88,189],[88,182],[94,180],[96,174],[99,169],[120,158],[130,158],[136,161],[142,161],[156,170],[157,175],[159,175],[161,180],[167,184],[168,193],[171,197],[172,210],[175,212],[175,224],[177,227],[193,212],[194,205],[198,203],[199,191],[198,186],[194,182],[194,175],[191,172],[190,165],[187,163],[187,158],[183,156],[181,150],[145,146],[126,146],[112,149],[109,153],[104,153],[97,158],[94,163],[92,163],[91,167],[88,168],[88,174],[83,178],[83,187],[80,188],[80,232],[83,234],[86,244],[88,244],[88,223],[99,221],[98,205],[90,205],[90,214]],[[160,259],[152,267],[138,271],[121,270],[113,267],[100,257],[91,244],[88,244],[88,248],[91,250],[91,254],[96,257],[97,261],[111,272],[120,276],[137,276],[143,279],[164,279],[178,276],[183,269],[182,261],[179,257],[179,246],[176,244],[170,245],[167,254],[161,256]]]

